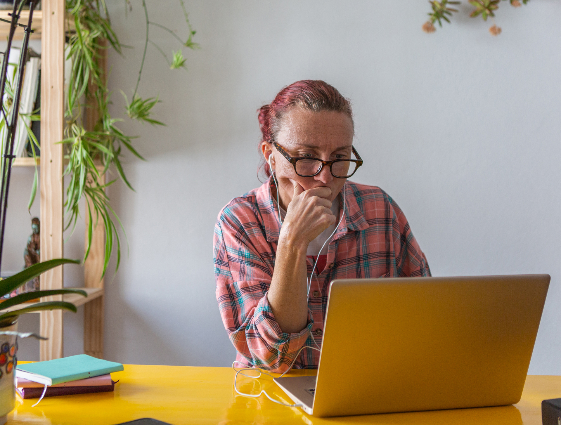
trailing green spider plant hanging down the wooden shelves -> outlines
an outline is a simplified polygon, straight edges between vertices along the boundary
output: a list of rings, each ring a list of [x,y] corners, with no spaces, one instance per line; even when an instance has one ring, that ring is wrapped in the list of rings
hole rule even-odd
[[[192,41],[195,31],[192,29],[188,20],[185,4],[178,0],[185,22],[187,25],[187,38],[181,39],[174,31],[164,25],[151,22],[148,15],[148,7],[145,0],[142,0],[146,20],[146,39],[144,43],[144,53],[140,64],[139,75],[136,81],[131,101],[123,91],[126,100],[126,115],[141,123],[152,125],[164,125],[153,117],[153,108],[159,102],[158,96],[142,98],[139,95],[139,85],[141,81],[142,68],[146,59],[148,44],[154,45],[163,55],[170,68],[179,69],[185,67],[186,59],[183,58],[181,48],[197,49],[199,45]],[[128,6],[132,8],[130,2]],[[123,46],[111,25],[109,13],[105,0],[67,0],[66,1],[68,27],[73,29],[68,31],[67,59],[72,61],[70,73],[70,84],[66,97],[66,127],[65,138],[61,141],[66,146],[65,158],[68,165],[65,168],[65,175],[70,177],[65,200],[65,229],[75,228],[80,217],[80,200],[86,198],[86,214],[89,218],[88,243],[85,250],[84,260],[88,257],[91,246],[91,235],[93,227],[102,222],[105,229],[105,258],[103,265],[103,275],[107,271],[109,258],[113,252],[114,244],[117,244],[117,272],[121,260],[121,241],[119,239],[118,227],[123,230],[121,221],[109,203],[109,198],[105,189],[111,186],[117,179],[112,179],[107,183],[102,183],[101,176],[108,172],[111,165],[114,165],[118,178],[132,188],[121,164],[122,155],[128,151],[137,158],[144,160],[133,146],[134,136],[129,136],[119,130],[117,123],[122,121],[109,112],[111,95],[107,86],[107,77],[100,65],[101,53],[103,50],[112,48],[115,52],[122,55]],[[132,9],[131,9],[132,10]],[[170,62],[164,50],[149,38],[150,26],[159,27],[171,34],[180,43],[180,50],[172,51],[172,61]],[[93,128],[85,128],[84,109],[94,109],[98,112],[99,119]],[[31,141],[33,149],[38,147],[36,140]],[[35,152],[35,150],[34,150]],[[33,203],[36,193],[35,178],[33,190],[30,198],[30,205]],[[125,234],[126,237],[126,234]]]

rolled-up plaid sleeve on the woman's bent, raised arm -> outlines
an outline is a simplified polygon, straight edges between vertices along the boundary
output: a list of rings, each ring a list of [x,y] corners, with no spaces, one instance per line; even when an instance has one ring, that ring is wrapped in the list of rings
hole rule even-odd
[[[273,256],[264,255],[265,235],[259,234],[255,221],[246,219],[226,207],[215,225],[214,274],[220,315],[238,352],[237,361],[283,372],[310,338],[314,321],[309,310],[302,331],[287,334],[280,329],[267,299]]]

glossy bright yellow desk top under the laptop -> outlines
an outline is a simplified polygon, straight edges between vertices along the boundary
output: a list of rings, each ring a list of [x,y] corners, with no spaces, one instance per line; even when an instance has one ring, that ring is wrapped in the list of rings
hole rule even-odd
[[[294,375],[305,373],[295,371]],[[237,395],[234,372],[223,367],[140,366],[127,364],[112,373],[119,380],[114,392],[16,400],[8,424],[117,424],[151,417],[180,424],[502,424],[541,425],[541,400],[561,398],[561,376],[528,376],[522,400],[516,406],[434,412],[314,418],[297,408],[277,405],[261,396]],[[259,384],[261,382],[261,384]],[[271,378],[238,377],[238,389],[256,393],[261,388],[286,403],[291,401]]]

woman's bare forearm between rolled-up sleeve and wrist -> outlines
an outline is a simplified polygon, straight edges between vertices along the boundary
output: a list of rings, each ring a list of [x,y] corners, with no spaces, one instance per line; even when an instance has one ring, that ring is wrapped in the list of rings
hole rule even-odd
[[[302,241],[279,238],[268,301],[283,332],[293,334],[306,327],[308,317],[306,250]],[[296,238],[298,239],[298,238]]]

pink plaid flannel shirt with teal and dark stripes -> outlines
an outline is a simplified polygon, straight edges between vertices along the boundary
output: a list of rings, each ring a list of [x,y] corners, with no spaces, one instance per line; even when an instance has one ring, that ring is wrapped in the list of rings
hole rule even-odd
[[[237,350],[236,361],[283,372],[304,345],[321,344],[333,279],[430,276],[429,265],[392,198],[379,187],[347,181],[345,216],[329,242],[327,263],[313,274],[307,326],[283,332],[267,299],[280,232],[272,179],[233,198],[214,228],[214,275],[220,315]],[[342,195],[339,214],[343,207]],[[308,276],[314,266],[307,258]],[[313,339],[312,339],[313,338]],[[318,367],[319,352],[302,350],[296,368]]]

